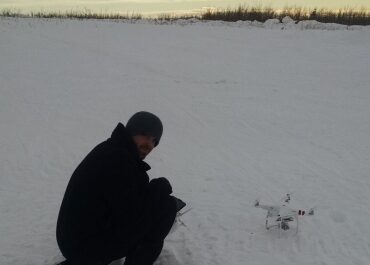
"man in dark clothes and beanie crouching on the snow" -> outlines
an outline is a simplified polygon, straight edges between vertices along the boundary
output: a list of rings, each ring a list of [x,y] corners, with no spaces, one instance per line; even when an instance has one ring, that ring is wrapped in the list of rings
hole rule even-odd
[[[73,173],[57,223],[63,265],[151,265],[176,217],[176,199],[165,178],[149,181],[143,159],[162,136],[149,112],[119,123]]]

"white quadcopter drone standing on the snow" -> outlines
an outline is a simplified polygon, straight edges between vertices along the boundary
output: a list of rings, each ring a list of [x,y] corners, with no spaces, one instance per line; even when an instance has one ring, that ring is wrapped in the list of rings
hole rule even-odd
[[[287,194],[282,205],[261,205],[259,200],[256,200],[254,207],[262,208],[267,211],[266,216],[266,229],[277,227],[279,233],[281,230],[289,230],[289,222],[296,222],[296,233],[298,233],[298,216],[306,214],[304,210],[292,209],[286,204],[290,202],[290,194]],[[307,211],[307,215],[314,215],[314,209],[311,208]]]

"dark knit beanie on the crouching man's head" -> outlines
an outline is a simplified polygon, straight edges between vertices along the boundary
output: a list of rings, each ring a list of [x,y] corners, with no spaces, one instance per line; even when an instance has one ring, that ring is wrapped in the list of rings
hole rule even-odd
[[[135,113],[127,122],[126,129],[132,136],[150,135],[155,138],[155,146],[158,145],[163,132],[161,120],[154,114],[146,111]]]

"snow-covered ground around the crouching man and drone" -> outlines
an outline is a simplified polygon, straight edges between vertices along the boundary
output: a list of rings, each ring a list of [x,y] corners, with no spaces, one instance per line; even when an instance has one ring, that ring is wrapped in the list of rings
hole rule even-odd
[[[1,265],[62,260],[70,175],[139,110],[193,208],[158,264],[369,264],[369,27],[193,22],[0,18]],[[316,212],[279,237],[253,202],[286,193]]]

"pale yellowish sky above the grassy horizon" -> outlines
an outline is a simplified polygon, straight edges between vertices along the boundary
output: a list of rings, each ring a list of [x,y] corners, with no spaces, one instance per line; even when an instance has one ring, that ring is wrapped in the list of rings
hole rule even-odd
[[[240,4],[271,6],[281,8],[286,5],[299,7],[343,8],[366,7],[370,0],[0,0],[0,9],[15,8],[20,11],[65,11],[87,8],[92,11],[122,13],[186,13],[207,8],[237,7]]]

